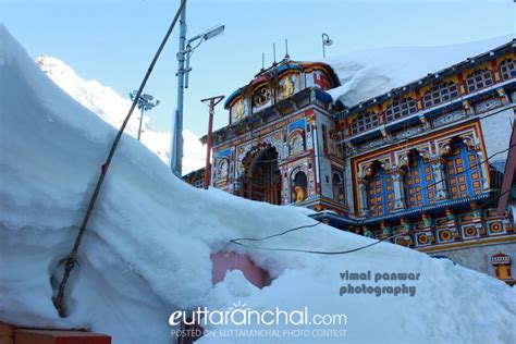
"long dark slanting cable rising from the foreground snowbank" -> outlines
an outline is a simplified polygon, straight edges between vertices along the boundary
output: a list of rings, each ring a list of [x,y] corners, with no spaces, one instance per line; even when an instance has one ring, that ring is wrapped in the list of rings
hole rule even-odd
[[[61,284],[59,285],[58,295],[53,298],[53,305],[54,305],[56,309],[58,310],[58,314],[61,318],[65,317],[64,308],[63,308],[63,299],[64,299],[64,293],[65,293],[66,284],[67,284],[67,281],[70,279],[70,274],[71,274],[72,270],[74,269],[75,265],[77,263],[78,248],[81,246],[81,243],[82,243],[82,239],[83,239],[83,236],[84,236],[84,232],[86,231],[86,226],[88,224],[89,218],[91,217],[91,213],[94,211],[95,202],[97,201],[97,197],[99,195],[100,187],[102,186],[102,183],[106,179],[106,174],[108,173],[108,169],[111,164],[111,160],[113,159],[114,151],[116,150],[119,142],[120,142],[120,139],[122,137],[122,134],[125,130],[125,126],[127,125],[127,122],[131,119],[131,115],[133,114],[133,111],[134,111],[134,109],[135,109],[135,107],[138,102],[139,97],[142,96],[142,93],[144,91],[144,88],[147,84],[147,81],[149,79],[150,74],[152,73],[152,70],[156,65],[156,62],[158,61],[158,58],[161,54],[161,51],[163,50],[170,35],[172,34],[172,30],[175,26],[175,23],[177,22],[177,20],[180,17],[180,14],[182,13],[185,4],[186,4],[186,0],[182,0],[179,10],[175,13],[174,19],[173,19],[172,23],[170,24],[170,27],[169,27],[167,34],[164,35],[163,40],[161,41],[161,45],[159,46],[158,51],[156,52],[156,54],[152,59],[152,62],[150,63],[150,65],[147,70],[147,73],[145,74],[145,77],[144,77],[144,79],[143,79],[139,88],[138,88],[138,91],[134,97],[133,105],[131,106],[131,109],[130,109],[127,115],[125,116],[125,120],[122,123],[122,126],[120,127],[120,130],[116,134],[116,137],[114,138],[114,142],[111,146],[108,158],[106,159],[106,162],[102,164],[102,167],[100,169],[99,179],[97,180],[97,184],[95,186],[94,194],[91,195],[91,198],[89,199],[88,208],[86,210],[83,222],[81,224],[81,229],[78,231],[77,237],[75,238],[75,244],[72,248],[72,251],[64,259],[61,260],[61,261],[64,262],[64,274],[63,274],[63,280],[61,281]]]

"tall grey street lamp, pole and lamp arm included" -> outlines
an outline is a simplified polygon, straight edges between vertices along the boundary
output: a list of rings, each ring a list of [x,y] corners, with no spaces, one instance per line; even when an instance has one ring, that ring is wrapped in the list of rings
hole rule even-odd
[[[188,73],[192,71],[189,66],[189,58],[197,47],[205,40],[211,39],[224,32],[224,25],[216,26],[205,33],[194,36],[186,40],[186,7],[183,9],[180,19],[180,47],[177,51],[177,108],[174,114],[174,125],[172,127],[170,168],[172,172],[182,176],[183,160],[183,100],[184,89],[188,87]],[[192,44],[198,41],[194,47]],[[186,67],[185,67],[186,62]]]

